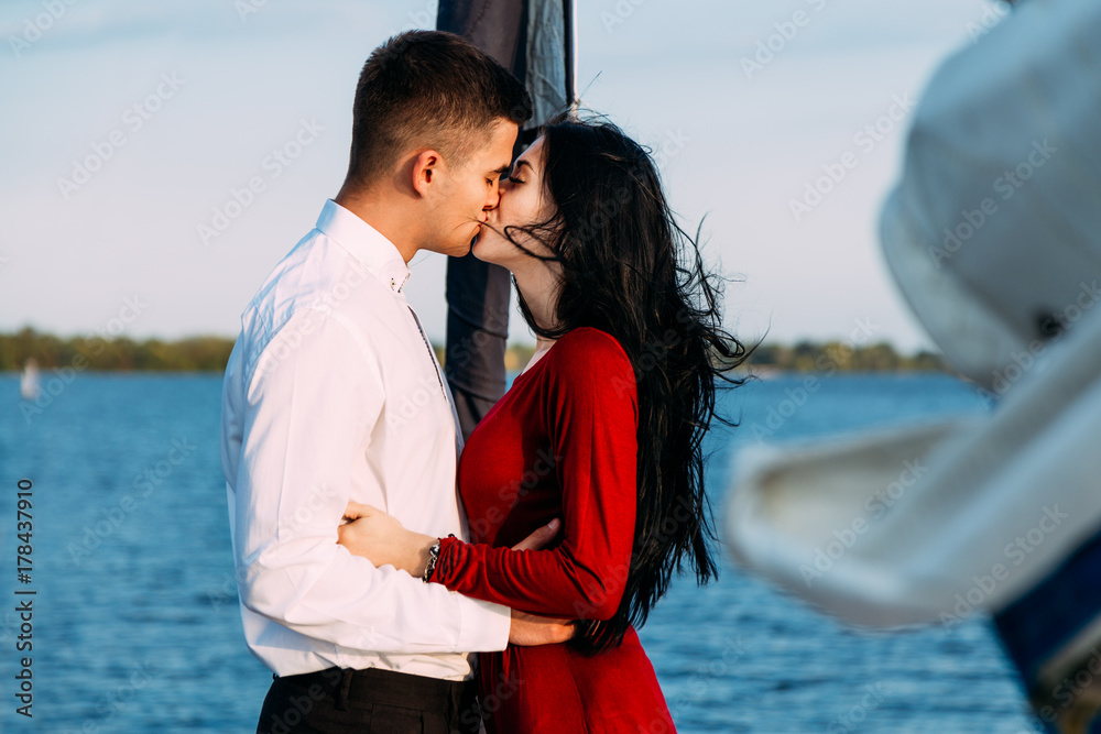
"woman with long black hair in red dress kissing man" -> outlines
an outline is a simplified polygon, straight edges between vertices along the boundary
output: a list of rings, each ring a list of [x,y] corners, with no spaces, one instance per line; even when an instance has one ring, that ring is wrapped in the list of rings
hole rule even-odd
[[[524,612],[577,620],[565,645],[484,653],[488,731],[673,732],[635,626],[690,565],[716,572],[700,442],[716,377],[749,352],[647,153],[559,116],[501,183],[473,253],[508,267],[538,348],[462,452],[473,544],[349,505],[340,543]],[[716,362],[724,362],[716,364]],[[720,418],[721,419],[721,418]],[[562,517],[560,543],[511,550]],[[438,544],[438,555],[436,548]]]

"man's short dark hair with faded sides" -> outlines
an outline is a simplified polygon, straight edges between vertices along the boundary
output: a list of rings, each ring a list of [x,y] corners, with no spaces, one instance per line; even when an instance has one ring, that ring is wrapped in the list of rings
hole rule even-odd
[[[370,186],[414,147],[461,165],[494,120],[531,117],[524,86],[473,44],[443,31],[401,33],[359,75],[348,183]]]

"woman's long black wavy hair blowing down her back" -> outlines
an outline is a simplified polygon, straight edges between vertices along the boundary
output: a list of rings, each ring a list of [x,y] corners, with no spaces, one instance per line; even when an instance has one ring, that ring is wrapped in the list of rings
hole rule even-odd
[[[542,135],[542,183],[556,211],[535,224],[508,226],[503,234],[530,255],[560,263],[556,324],[536,324],[517,286],[521,311],[547,339],[584,326],[615,337],[639,393],[639,494],[626,588],[615,614],[579,621],[571,643],[596,653],[618,646],[630,625],[645,624],[674,570],[689,565],[700,584],[717,576],[702,440],[712,418],[738,425],[716,414],[716,388],[719,381],[734,387],[752,379],[729,371],[756,346],[746,349],[722,330],[717,276],[677,224],[644,147],[607,120],[567,112],[552,118]],[[553,254],[532,252],[514,231]]]

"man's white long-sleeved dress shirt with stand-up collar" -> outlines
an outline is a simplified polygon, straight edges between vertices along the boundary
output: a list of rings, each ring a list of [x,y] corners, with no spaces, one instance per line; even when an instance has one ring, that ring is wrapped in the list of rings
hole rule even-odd
[[[461,680],[508,644],[508,607],[375,568],[337,544],[348,500],[467,539],[451,394],[385,237],[326,201],[241,316],[221,464],[249,649],[280,675],[331,666]]]

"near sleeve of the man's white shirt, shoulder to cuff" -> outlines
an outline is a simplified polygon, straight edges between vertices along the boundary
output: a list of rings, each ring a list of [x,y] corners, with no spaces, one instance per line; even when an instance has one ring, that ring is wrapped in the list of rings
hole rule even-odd
[[[235,504],[241,601],[315,639],[389,654],[501,650],[510,611],[337,544],[384,392],[359,330],[302,309],[248,379]]]

